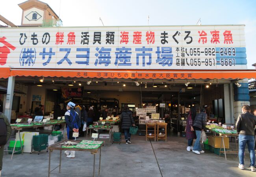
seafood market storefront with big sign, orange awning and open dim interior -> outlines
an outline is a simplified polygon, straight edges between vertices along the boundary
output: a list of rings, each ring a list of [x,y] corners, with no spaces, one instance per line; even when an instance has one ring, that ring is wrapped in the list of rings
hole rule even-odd
[[[2,28],[0,43],[8,118],[13,94],[21,94],[16,114],[33,112],[36,101],[50,114],[75,99],[117,114],[124,104],[154,106],[159,118],[177,121],[204,106],[209,118],[234,124],[249,104],[247,79],[256,77],[247,70],[243,25]],[[63,88],[76,91],[61,99]]]

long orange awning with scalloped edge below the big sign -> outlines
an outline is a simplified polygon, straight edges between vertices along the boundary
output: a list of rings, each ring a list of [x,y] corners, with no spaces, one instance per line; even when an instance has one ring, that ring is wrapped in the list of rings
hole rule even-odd
[[[97,77],[132,79],[250,79],[256,70],[68,70],[0,68],[0,76]],[[10,71],[11,70],[11,71]]]

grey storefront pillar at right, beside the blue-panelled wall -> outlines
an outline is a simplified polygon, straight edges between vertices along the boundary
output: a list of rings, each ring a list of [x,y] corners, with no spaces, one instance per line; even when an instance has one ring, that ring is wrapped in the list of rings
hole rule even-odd
[[[224,114],[225,123],[234,124],[234,96],[233,84],[224,84]]]

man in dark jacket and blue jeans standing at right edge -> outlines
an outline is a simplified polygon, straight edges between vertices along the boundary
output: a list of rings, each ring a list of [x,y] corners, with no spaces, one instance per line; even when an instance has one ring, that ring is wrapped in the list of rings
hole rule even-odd
[[[236,121],[236,130],[239,133],[239,165],[241,170],[245,169],[244,157],[245,146],[247,144],[250,152],[250,170],[255,171],[255,151],[254,151],[254,135],[256,126],[256,117],[250,113],[250,106],[243,105],[242,114],[240,114]]]

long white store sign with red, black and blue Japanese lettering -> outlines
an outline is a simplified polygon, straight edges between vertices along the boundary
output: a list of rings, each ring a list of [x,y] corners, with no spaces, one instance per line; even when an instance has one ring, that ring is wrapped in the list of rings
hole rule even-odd
[[[2,28],[0,67],[247,69],[243,25]]]

